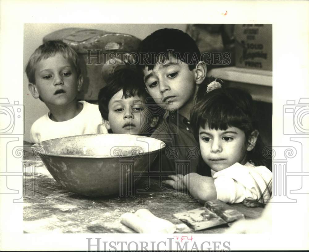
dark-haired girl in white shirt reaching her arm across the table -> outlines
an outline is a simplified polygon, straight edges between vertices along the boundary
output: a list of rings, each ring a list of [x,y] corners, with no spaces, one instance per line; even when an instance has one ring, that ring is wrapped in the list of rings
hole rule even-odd
[[[221,84],[216,79],[205,92],[199,90],[190,115],[201,156],[212,176],[170,175],[164,183],[187,188],[202,201],[264,203],[271,197],[273,175],[262,155],[252,97],[244,90],[222,88]]]

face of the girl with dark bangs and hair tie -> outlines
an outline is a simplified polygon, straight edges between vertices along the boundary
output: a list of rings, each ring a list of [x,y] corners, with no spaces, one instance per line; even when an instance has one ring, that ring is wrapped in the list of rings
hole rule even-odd
[[[251,148],[246,143],[245,133],[236,127],[226,130],[200,127],[199,142],[204,162],[214,171],[220,171],[239,162],[247,162],[247,151]]]

